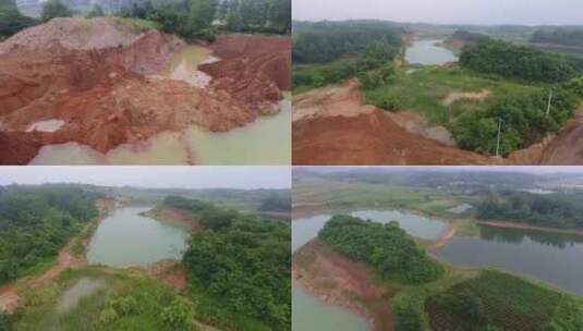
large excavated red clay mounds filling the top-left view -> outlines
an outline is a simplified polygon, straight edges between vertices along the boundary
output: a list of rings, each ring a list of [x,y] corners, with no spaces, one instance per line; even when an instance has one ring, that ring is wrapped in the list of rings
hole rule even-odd
[[[83,22],[83,30],[108,24]],[[153,76],[185,46],[174,36],[150,30],[122,38],[110,32],[119,38],[111,46],[116,39],[104,42],[98,33],[89,36],[92,42],[77,40],[73,33],[61,39],[42,34],[70,24],[52,20],[32,27],[38,33],[27,29],[21,33],[24,37],[17,34],[0,44],[0,130],[9,137],[0,137],[1,164],[27,163],[33,151],[50,144],[77,142],[107,152],[191,124],[229,131],[275,111],[279,86],[289,87],[282,76],[289,76],[290,62],[281,58],[290,50],[289,38],[219,36],[211,48],[226,60],[208,65],[214,79],[202,89]],[[28,42],[29,36],[38,40]],[[81,48],[71,46],[81,41]],[[31,124],[51,119],[65,124],[54,133],[26,133]],[[9,145],[14,137],[16,145]],[[3,156],[9,149],[12,156]]]

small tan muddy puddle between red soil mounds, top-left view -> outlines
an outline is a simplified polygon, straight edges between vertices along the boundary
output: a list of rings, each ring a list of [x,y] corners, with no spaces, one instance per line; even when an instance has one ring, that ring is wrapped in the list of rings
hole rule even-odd
[[[203,88],[210,83],[211,77],[199,71],[198,65],[217,61],[217,58],[210,57],[209,49],[201,46],[186,46],[172,54],[161,75]]]

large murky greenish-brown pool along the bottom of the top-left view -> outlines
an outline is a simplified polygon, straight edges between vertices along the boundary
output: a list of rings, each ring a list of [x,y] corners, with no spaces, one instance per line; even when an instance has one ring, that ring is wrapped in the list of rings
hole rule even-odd
[[[77,143],[48,145],[29,164],[289,164],[291,100],[286,98],[280,107],[279,113],[230,132],[211,133],[193,125],[121,145],[106,155]]]

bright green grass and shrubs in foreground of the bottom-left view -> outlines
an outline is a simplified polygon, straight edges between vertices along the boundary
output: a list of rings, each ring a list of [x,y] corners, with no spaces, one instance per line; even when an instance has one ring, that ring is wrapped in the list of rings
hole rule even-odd
[[[58,308],[63,293],[78,281],[104,286],[82,296],[68,309]],[[23,290],[24,307],[15,314],[15,330],[189,330],[194,324],[196,302],[138,271],[89,267],[65,270],[54,281]]]

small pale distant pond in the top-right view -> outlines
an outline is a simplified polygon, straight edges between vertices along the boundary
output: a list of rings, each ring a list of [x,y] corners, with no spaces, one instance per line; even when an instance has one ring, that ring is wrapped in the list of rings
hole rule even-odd
[[[421,39],[413,41],[405,50],[405,60],[410,64],[442,65],[458,61],[458,57],[449,49],[437,46],[444,40]]]

